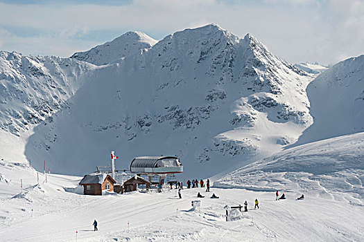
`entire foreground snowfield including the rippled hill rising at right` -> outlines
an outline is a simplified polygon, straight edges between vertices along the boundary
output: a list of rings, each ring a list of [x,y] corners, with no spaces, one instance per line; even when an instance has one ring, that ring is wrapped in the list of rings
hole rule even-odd
[[[0,237],[76,241],[77,231],[77,241],[363,241],[363,144],[357,133],[281,151],[225,176],[211,192],[185,188],[182,199],[175,189],[84,196],[65,192],[81,177],[50,174],[44,183],[40,174],[37,185],[33,169],[1,162]],[[275,201],[276,189],[286,200]],[[200,210],[192,211],[196,200]],[[226,222],[225,205],[245,201],[242,219]]]

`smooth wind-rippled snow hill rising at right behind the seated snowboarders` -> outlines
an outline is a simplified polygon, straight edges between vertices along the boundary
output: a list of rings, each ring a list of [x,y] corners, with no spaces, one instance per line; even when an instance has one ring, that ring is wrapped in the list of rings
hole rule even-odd
[[[295,191],[364,205],[364,133],[286,149],[221,178],[214,187]]]

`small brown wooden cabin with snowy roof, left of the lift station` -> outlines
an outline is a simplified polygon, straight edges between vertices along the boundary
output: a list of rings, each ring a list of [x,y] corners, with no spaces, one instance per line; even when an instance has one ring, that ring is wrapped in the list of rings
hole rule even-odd
[[[83,194],[85,195],[102,195],[103,190],[114,192],[116,181],[107,174],[89,174],[85,175],[80,181],[83,185]]]

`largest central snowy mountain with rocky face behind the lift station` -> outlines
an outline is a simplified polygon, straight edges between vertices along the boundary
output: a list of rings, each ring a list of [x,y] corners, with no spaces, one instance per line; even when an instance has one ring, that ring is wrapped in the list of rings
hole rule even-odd
[[[85,174],[108,165],[111,150],[119,168],[135,156],[177,155],[184,176],[211,176],[294,143],[312,123],[310,81],[250,34],[175,32],[94,70],[73,105],[35,129],[26,156]]]

